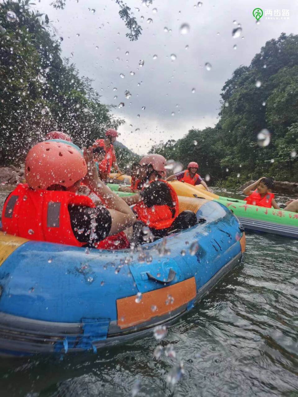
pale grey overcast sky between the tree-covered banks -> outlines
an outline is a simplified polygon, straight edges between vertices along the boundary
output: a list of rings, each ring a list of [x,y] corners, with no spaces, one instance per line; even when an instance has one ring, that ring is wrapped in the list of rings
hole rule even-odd
[[[71,60],[81,75],[94,79],[101,101],[117,105],[114,114],[126,121],[119,128],[119,140],[139,154],[162,139],[183,137],[192,127],[215,125],[221,89],[234,69],[249,65],[261,46],[281,32],[298,33],[296,1],[203,0],[199,7],[194,0],[153,0],[149,6],[127,0],[143,28],[134,42],[125,36],[128,30],[114,0],[66,0],[65,10],[55,10],[50,2],[37,4],[63,37],[62,56],[73,53]],[[263,10],[259,24],[252,15],[255,7]],[[289,19],[265,19],[265,10],[282,14],[284,9]],[[190,29],[182,35],[184,23]],[[242,33],[235,39],[232,30],[238,23]],[[211,70],[205,68],[207,62]],[[129,99],[126,90],[132,95]],[[125,106],[119,109],[120,102]]]

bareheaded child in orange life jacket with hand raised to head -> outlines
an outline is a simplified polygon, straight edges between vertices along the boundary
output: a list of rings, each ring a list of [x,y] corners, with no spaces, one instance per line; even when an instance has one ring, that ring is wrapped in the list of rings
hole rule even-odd
[[[279,210],[279,206],[274,200],[274,194],[271,190],[274,186],[274,181],[270,177],[261,177],[256,182],[244,189],[243,194],[248,195],[244,198],[246,204],[258,205],[260,207],[276,208]]]

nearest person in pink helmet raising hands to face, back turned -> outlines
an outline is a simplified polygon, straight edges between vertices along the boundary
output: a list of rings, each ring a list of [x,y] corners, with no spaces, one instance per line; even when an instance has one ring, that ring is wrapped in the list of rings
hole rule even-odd
[[[2,229],[30,240],[106,248],[106,239],[129,246],[135,215],[98,177],[92,148],[83,154],[68,143],[45,141],[29,150],[25,184],[6,199]],[[103,205],[77,194],[83,181]],[[129,229],[128,229],[129,228]],[[128,229],[127,234],[124,230]],[[101,245],[102,244],[102,245]]]

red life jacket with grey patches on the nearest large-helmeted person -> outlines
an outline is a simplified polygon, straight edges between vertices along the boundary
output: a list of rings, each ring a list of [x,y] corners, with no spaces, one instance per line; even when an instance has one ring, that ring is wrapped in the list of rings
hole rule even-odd
[[[67,191],[32,190],[19,183],[2,210],[2,229],[29,240],[81,247],[74,236],[68,205],[95,207],[91,198]]]

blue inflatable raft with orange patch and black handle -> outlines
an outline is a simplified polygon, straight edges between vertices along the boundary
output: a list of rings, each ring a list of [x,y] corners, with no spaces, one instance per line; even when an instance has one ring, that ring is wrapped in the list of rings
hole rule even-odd
[[[0,355],[86,351],[190,310],[245,249],[222,204],[179,197],[205,219],[138,251],[86,250],[0,231]]]

